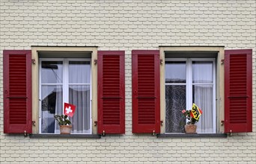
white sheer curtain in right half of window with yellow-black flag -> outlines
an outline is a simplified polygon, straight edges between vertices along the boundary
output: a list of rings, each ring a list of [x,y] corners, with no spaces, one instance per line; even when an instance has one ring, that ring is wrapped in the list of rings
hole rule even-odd
[[[198,133],[215,133],[213,101],[213,60],[192,62],[192,101],[203,111],[197,123]]]

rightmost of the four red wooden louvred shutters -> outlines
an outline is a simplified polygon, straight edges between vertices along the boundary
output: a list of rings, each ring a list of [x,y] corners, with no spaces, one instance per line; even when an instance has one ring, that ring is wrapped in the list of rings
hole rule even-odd
[[[225,133],[252,132],[252,49],[225,50]]]

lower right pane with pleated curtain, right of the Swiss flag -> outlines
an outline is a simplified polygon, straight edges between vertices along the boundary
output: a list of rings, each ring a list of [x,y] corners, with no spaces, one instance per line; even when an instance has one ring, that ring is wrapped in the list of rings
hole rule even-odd
[[[70,121],[72,133],[88,133],[90,130],[90,85],[70,85],[69,102],[76,105],[76,112]]]

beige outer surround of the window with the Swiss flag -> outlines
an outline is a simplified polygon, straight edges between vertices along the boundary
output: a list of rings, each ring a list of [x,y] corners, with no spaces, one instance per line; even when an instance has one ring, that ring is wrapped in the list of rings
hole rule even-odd
[[[32,133],[39,134],[39,119],[38,111],[40,108],[39,105],[39,59],[40,52],[49,52],[47,55],[48,58],[65,58],[61,56],[59,52],[64,52],[64,54],[69,54],[70,52],[85,53],[85,58],[91,59],[91,135],[97,134],[97,46],[31,46],[31,72],[32,72]],[[54,57],[51,57],[52,53],[57,53]],[[88,57],[90,54],[90,57]],[[81,58],[81,56],[79,56]],[[93,124],[94,123],[94,124]],[[41,134],[40,134],[41,135]],[[42,134],[44,135],[44,134]],[[58,135],[58,134],[56,134]],[[82,134],[78,134],[82,135]],[[86,135],[86,134],[85,134]],[[90,134],[89,134],[90,135]]]

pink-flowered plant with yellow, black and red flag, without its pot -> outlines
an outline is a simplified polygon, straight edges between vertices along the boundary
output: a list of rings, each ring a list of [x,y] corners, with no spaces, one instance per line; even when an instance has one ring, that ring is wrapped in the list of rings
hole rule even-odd
[[[189,120],[187,124],[197,123],[199,121],[199,117],[203,113],[195,104],[193,104],[192,110],[182,110],[181,112],[186,117],[186,119]]]

